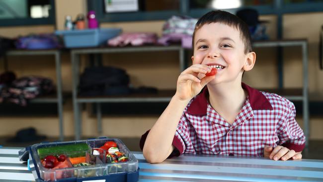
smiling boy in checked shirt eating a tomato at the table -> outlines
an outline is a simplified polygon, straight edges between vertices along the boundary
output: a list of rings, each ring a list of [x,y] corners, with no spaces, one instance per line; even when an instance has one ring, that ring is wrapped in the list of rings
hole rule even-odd
[[[293,103],[242,83],[256,59],[247,25],[229,12],[210,11],[195,25],[193,50],[193,65],[179,75],[167,108],[142,136],[146,160],[160,163],[183,153],[301,159],[305,136]],[[211,68],[217,74],[206,76]]]

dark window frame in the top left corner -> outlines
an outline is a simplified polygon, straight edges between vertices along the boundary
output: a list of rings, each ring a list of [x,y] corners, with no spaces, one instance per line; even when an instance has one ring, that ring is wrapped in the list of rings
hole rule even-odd
[[[0,19],[0,27],[3,26],[26,26],[26,25],[56,25],[55,0],[50,0],[51,9],[47,18],[7,18]]]

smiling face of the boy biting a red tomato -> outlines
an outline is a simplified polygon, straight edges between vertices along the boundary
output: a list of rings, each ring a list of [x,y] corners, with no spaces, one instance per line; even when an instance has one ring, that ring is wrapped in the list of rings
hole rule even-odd
[[[217,75],[211,83],[239,81],[242,79],[249,55],[244,54],[244,44],[238,29],[222,23],[203,25],[195,32],[193,64],[217,67]],[[251,54],[254,54],[252,52]],[[252,69],[255,61],[251,63]],[[199,75],[199,78],[204,75]]]

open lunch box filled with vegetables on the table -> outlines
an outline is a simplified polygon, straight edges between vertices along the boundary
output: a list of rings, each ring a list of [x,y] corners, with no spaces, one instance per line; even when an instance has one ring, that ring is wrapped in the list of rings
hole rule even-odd
[[[106,151],[99,148],[103,146],[107,141],[115,142],[117,144],[117,147],[119,148],[119,152],[122,152],[123,156],[127,158],[127,161],[113,162],[112,158],[108,158],[106,156]],[[66,160],[64,161],[64,163],[60,163],[59,166],[53,169],[45,168],[43,166],[42,162],[44,156],[40,156],[38,154],[38,149],[81,143],[86,144],[88,146],[88,149],[83,151],[63,152],[59,154],[55,153],[53,154],[55,156],[65,156]],[[102,153],[94,154],[94,150],[96,150],[95,152],[101,150]],[[68,142],[40,143],[26,148],[26,151],[29,152],[30,170],[34,175],[35,180],[38,182],[85,182],[89,180],[137,182],[139,180],[138,160],[124,145],[124,143],[116,138],[104,137]],[[86,165],[84,165],[84,163],[80,163],[77,166],[73,166],[71,161],[72,159],[75,159],[75,156],[85,157]]]

